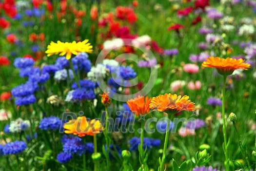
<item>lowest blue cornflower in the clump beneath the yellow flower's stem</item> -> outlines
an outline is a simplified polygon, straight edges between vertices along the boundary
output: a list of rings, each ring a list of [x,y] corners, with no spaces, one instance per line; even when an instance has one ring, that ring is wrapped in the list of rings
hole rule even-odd
[[[77,88],[72,93],[74,100],[92,100],[95,98],[94,91],[92,89]]]

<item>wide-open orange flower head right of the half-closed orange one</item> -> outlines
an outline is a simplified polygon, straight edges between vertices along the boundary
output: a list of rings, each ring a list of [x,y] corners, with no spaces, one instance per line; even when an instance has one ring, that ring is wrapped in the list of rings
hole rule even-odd
[[[189,96],[184,95],[172,95],[164,94],[153,97],[151,103],[149,104],[150,109],[157,110],[159,112],[163,111],[194,111],[195,103],[189,100]]]

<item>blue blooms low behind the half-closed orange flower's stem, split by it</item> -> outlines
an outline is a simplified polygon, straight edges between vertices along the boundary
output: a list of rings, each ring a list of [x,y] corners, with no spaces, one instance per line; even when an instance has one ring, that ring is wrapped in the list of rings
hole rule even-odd
[[[131,147],[130,147],[130,151],[137,151],[138,150],[138,145],[140,144],[140,137],[133,137],[132,139],[130,139],[129,141]],[[151,149],[152,147],[158,147],[161,144],[161,140],[159,139],[154,139],[154,138],[148,138],[148,137],[144,137],[143,138],[143,148],[145,149],[147,147],[147,149]]]

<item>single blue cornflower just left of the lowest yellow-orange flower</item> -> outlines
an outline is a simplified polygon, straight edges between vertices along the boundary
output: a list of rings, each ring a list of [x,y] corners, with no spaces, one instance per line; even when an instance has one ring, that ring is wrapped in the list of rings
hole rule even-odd
[[[56,130],[59,129],[61,120],[56,116],[44,117],[40,123],[39,128],[41,130]]]

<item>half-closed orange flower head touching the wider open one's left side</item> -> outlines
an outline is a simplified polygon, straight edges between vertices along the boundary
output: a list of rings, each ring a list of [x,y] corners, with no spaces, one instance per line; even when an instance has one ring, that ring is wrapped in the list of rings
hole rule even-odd
[[[130,99],[127,101],[128,106],[130,107],[131,111],[139,116],[140,114],[148,114],[150,111],[149,103],[152,98],[148,96],[138,96],[134,99]]]

